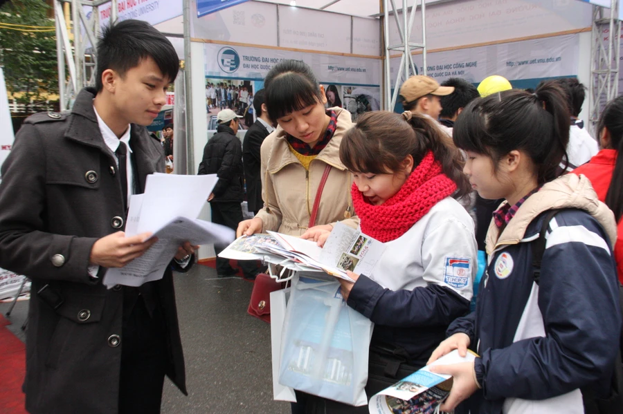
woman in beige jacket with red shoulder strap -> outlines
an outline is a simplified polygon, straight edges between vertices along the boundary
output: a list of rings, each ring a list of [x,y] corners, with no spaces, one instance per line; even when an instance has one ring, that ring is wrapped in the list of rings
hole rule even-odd
[[[238,225],[237,236],[267,230],[300,236],[310,224],[331,229],[338,220],[356,227],[352,176],[339,158],[342,136],[352,127],[350,113],[325,109],[324,88],[303,62],[273,66],[264,87],[269,116],[278,123],[261,149],[264,208]],[[325,173],[316,219],[310,223]]]

